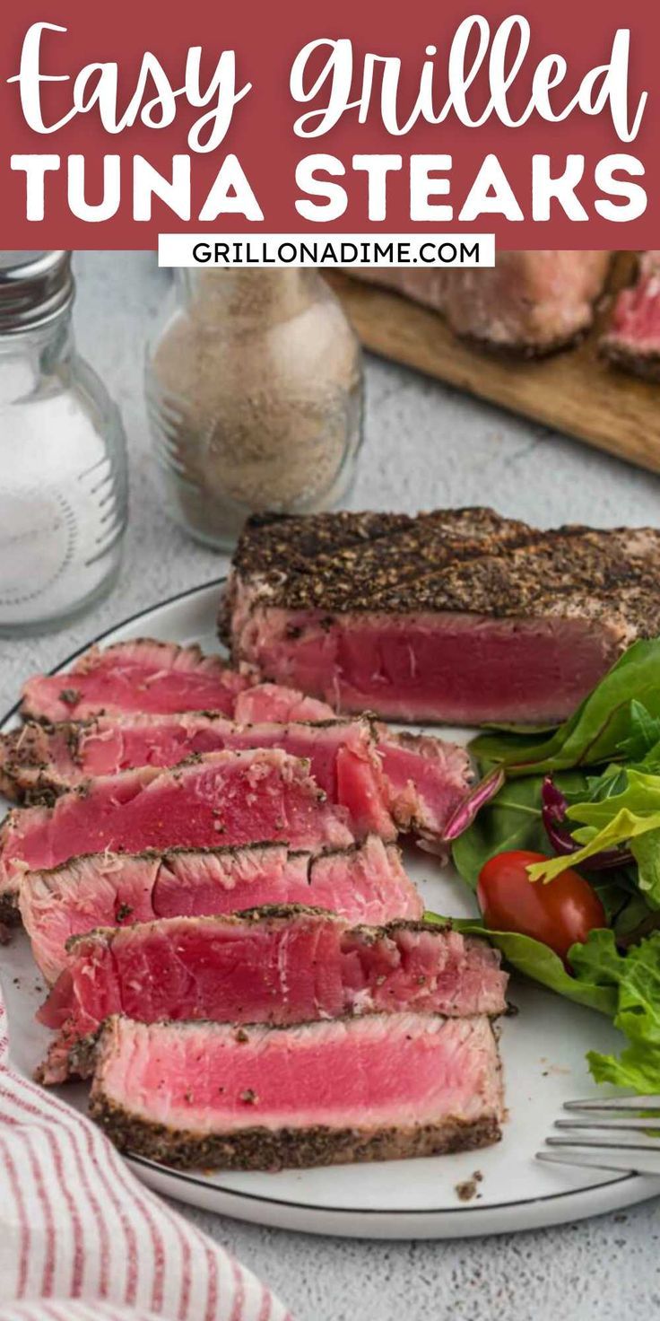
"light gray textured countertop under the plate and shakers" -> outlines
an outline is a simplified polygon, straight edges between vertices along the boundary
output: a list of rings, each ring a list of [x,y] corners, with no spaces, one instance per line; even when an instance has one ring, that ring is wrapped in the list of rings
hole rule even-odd
[[[77,268],[79,345],[119,400],[129,440],[124,568],[75,627],[0,641],[0,709],[29,671],[224,567],[166,520],[149,472],[143,343],[166,276],[136,252],[83,254]],[[541,526],[660,522],[660,482],[645,473],[389,363],[368,361],[367,388],[355,509],[491,503]],[[297,1321],[647,1321],[660,1306],[657,1201],[564,1229],[450,1243],[314,1238],[183,1214],[267,1279]]]

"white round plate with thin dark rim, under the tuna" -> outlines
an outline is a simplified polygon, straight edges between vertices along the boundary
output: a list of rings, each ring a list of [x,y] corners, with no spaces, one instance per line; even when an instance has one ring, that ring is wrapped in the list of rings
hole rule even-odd
[[[150,635],[197,641],[205,650],[214,650],[218,598],[219,584],[197,588],[135,616],[104,634],[103,642]],[[15,723],[12,712],[3,728]],[[467,732],[454,731],[451,736],[465,741]],[[470,894],[451,867],[441,867],[417,849],[411,849],[407,865],[430,909],[457,917],[473,911]],[[44,1057],[49,1033],[34,1024],[41,988],[22,935],[3,950],[1,964],[12,1062],[32,1074]],[[393,1239],[539,1229],[660,1193],[660,1180],[549,1166],[535,1160],[562,1102],[595,1090],[585,1052],[618,1049],[620,1040],[599,1015],[540,987],[513,979],[511,1000],[520,1013],[502,1024],[508,1122],[496,1147],[459,1156],[279,1174],[206,1176],[168,1170],[141,1159],[131,1164],[160,1193],[206,1210],[280,1229]],[[84,1110],[83,1087],[62,1089],[61,1096]],[[483,1176],[478,1196],[461,1202],[457,1185],[475,1170]]]

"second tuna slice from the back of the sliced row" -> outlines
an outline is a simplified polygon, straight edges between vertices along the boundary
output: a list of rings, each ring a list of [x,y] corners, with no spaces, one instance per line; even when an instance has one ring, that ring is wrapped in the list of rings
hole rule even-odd
[[[347,808],[356,835],[376,832],[387,839],[396,828],[441,836],[467,791],[470,762],[463,749],[395,734],[367,720],[342,723],[330,707],[315,705],[325,713],[315,725],[236,725],[202,713],[99,716],[59,725],[30,721],[0,734],[0,787],[22,802],[50,802],[99,775],[174,766],[195,753],[281,748],[309,760],[318,786]]]

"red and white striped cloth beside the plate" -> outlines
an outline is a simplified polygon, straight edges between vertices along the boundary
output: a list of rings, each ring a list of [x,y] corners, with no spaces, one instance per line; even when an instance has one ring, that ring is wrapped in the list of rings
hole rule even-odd
[[[290,1321],[100,1129],[8,1069],[0,996],[0,1321],[156,1317]]]

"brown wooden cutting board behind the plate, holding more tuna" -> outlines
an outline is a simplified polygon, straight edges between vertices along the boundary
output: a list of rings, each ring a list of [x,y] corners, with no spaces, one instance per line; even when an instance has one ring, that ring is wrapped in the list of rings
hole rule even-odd
[[[623,271],[619,263],[615,285]],[[598,359],[598,322],[577,347],[515,362],[462,343],[441,316],[397,293],[339,273],[329,280],[374,353],[660,473],[660,386]]]

